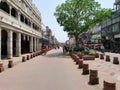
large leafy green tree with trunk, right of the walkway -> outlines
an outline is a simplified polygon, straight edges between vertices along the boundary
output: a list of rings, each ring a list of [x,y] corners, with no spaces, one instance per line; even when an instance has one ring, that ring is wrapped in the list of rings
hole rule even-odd
[[[100,4],[94,0],[66,0],[56,7],[54,15],[64,31],[75,37],[78,46],[79,35],[101,21],[101,13]]]

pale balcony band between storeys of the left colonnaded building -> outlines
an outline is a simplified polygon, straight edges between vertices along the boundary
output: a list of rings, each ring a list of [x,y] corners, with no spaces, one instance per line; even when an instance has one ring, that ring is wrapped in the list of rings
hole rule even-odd
[[[22,23],[17,18],[14,18],[7,14],[6,12],[0,10],[0,21],[4,22],[8,25],[14,26],[15,28],[19,28],[25,32],[28,32],[30,34],[34,34],[37,36],[42,36],[41,32],[34,30],[33,28],[29,27],[28,25]]]

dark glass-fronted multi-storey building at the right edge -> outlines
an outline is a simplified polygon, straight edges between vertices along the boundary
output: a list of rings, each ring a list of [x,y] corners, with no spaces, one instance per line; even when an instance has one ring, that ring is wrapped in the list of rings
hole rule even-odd
[[[107,19],[101,26],[102,43],[107,50],[120,50],[120,0],[115,0],[112,19]]]

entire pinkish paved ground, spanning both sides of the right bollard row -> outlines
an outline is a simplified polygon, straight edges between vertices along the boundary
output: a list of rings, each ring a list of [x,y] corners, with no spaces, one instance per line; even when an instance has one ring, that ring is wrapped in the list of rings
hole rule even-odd
[[[69,56],[64,56],[62,49],[23,63],[21,57],[13,60],[15,66],[0,73],[0,90],[102,90],[103,80],[116,82],[116,90],[120,90],[120,65],[99,58],[84,61],[90,69],[98,70],[98,85],[89,85],[89,75],[82,75],[82,69]],[[6,60],[2,62],[7,65]]]

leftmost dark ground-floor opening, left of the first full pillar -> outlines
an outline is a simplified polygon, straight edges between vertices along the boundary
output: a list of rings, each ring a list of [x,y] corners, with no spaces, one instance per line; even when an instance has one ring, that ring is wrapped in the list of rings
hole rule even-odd
[[[7,37],[8,33],[5,30],[1,32],[1,58],[7,58]]]

